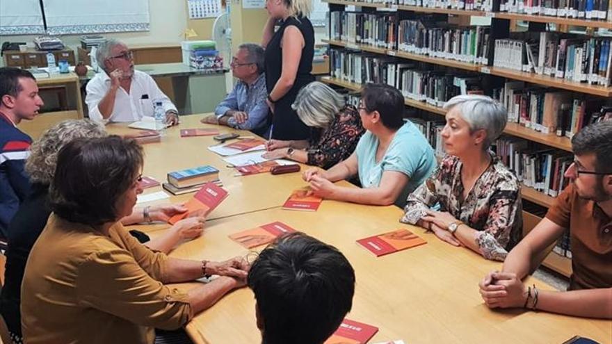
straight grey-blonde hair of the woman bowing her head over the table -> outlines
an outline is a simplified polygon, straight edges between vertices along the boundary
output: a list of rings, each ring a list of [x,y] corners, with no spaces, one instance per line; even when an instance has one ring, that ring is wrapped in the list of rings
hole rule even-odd
[[[291,105],[304,124],[316,128],[327,128],[343,107],[344,98],[319,81],[305,85]]]

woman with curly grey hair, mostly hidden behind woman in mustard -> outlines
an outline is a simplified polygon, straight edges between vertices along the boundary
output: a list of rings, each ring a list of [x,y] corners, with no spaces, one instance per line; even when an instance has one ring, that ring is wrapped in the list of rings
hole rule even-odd
[[[32,183],[32,192],[20,204],[19,210],[8,226],[10,245],[6,250],[5,285],[0,295],[0,313],[15,343],[19,343],[22,335],[19,304],[26,261],[51,213],[47,196],[56,170],[58,151],[77,138],[93,139],[106,136],[108,134],[102,124],[92,120],[65,120],[45,131],[31,146],[31,154],[25,168]],[[172,204],[151,207],[149,216],[151,220],[163,221],[168,215],[184,211],[183,208]],[[135,208],[132,215],[122,219],[122,223],[143,222],[143,213],[143,208]],[[177,222],[165,234],[148,241],[145,245],[154,250],[168,252],[180,240],[199,236],[203,226],[204,218],[189,218],[182,223]],[[139,240],[148,240],[148,237],[140,232],[131,231],[131,234]],[[53,243],[47,244],[53,245]]]

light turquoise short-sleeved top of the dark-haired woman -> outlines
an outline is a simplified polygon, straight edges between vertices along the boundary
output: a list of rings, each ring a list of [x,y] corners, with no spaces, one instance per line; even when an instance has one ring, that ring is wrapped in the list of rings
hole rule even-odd
[[[377,188],[385,171],[397,171],[410,178],[400,197],[411,193],[435,170],[437,165],[433,148],[414,124],[406,122],[396,131],[385,156],[376,163],[379,140],[366,131],[357,143],[359,179],[364,188]]]

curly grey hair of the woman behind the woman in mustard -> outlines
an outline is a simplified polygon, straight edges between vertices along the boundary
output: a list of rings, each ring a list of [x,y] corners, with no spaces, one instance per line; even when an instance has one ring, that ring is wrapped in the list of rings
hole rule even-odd
[[[56,124],[30,147],[26,172],[32,183],[51,184],[57,165],[57,154],[75,138],[102,138],[108,134],[102,124],[92,120],[65,120]]]

